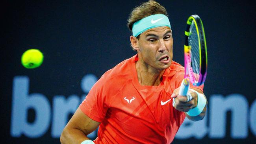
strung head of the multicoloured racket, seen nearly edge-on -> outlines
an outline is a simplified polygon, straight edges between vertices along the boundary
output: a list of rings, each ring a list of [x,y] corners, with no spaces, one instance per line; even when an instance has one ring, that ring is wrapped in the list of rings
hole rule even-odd
[[[204,26],[198,15],[187,20],[184,44],[185,78],[195,86],[204,83],[207,74],[207,48]]]

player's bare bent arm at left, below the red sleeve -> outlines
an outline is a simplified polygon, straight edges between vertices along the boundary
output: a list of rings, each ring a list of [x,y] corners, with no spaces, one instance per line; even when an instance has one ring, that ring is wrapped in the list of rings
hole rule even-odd
[[[89,139],[87,135],[95,131],[99,125],[100,122],[92,120],[78,108],[63,129],[60,142],[61,144],[80,144]]]

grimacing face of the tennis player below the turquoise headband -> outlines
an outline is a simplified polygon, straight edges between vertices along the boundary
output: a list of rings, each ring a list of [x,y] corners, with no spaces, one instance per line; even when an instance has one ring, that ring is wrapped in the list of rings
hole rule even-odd
[[[139,54],[145,64],[164,70],[173,59],[172,31],[167,26],[149,29],[139,37]]]

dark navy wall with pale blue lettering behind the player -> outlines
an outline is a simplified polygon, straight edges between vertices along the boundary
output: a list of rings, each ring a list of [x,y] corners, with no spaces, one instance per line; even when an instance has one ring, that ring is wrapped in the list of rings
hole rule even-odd
[[[62,126],[91,85],[136,54],[130,48],[126,20],[141,2],[145,1],[4,2],[1,141],[59,143]],[[174,61],[184,63],[184,30],[191,14],[202,18],[208,46],[204,87],[208,114],[199,123],[186,120],[173,143],[256,142],[255,4],[249,0],[158,2],[169,13]],[[30,48],[45,55],[39,68],[20,64],[22,53]]]

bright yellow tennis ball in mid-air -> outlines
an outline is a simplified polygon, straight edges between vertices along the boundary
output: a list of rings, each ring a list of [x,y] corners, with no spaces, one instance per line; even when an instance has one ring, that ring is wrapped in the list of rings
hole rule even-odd
[[[25,68],[37,68],[43,60],[44,55],[37,49],[26,50],[21,56],[21,63]]]

